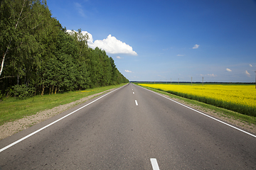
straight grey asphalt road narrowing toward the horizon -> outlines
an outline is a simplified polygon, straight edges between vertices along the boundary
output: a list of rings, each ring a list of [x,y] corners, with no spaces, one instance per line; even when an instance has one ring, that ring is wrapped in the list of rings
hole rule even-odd
[[[255,136],[134,84],[1,140],[0,149],[0,169],[256,169]]]

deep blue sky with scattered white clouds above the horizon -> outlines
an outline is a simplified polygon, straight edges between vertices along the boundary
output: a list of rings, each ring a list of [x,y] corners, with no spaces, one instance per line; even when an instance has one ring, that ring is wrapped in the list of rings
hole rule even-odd
[[[130,81],[254,82],[255,0],[48,0]]]

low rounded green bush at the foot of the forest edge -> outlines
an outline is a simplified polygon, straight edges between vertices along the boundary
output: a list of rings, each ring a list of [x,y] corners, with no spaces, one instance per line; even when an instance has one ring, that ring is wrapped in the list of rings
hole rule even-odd
[[[24,99],[33,96],[35,90],[36,89],[34,87],[28,87],[25,84],[15,85],[12,88],[11,94],[18,96],[18,99]]]

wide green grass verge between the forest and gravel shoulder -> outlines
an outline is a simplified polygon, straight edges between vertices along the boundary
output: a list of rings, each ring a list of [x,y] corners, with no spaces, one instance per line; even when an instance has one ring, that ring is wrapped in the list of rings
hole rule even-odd
[[[107,91],[109,89],[118,88],[123,85],[124,84],[104,86],[95,89],[87,89],[85,91],[70,91],[63,94],[34,96],[24,100],[18,100],[14,97],[4,98],[3,101],[0,101],[0,125],[21,119],[24,116],[34,115],[38,113],[38,111],[44,111],[66,103],[71,103],[80,98]]]

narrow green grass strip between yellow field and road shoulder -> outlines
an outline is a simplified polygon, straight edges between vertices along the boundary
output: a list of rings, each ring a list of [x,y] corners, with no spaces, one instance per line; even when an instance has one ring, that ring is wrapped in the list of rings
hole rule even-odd
[[[213,111],[213,113],[218,113],[218,115],[220,115],[222,117],[228,117],[228,118],[233,118],[235,120],[240,120],[244,123],[248,123],[249,125],[250,125],[250,123],[256,125],[256,118],[254,116],[243,115],[243,114],[235,112],[235,111],[230,111],[230,110],[225,109],[225,108],[218,108],[216,106],[213,106],[213,105],[210,105],[210,104],[207,104],[207,103],[202,103],[200,101],[195,101],[195,100],[191,100],[191,99],[188,99],[188,98],[183,98],[181,96],[176,96],[174,94],[169,94],[168,92],[153,89],[153,88],[150,88],[150,87],[146,87],[146,86],[142,86],[142,87],[144,87],[146,89],[149,89],[151,91],[155,91],[159,94],[165,94],[167,96],[170,96],[171,98],[176,98],[180,101],[183,101],[184,103],[186,103],[188,105],[199,106],[199,107],[203,108],[203,110],[205,110],[205,111],[207,111],[207,110]]]

